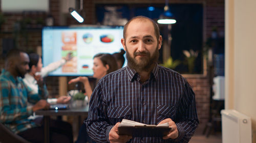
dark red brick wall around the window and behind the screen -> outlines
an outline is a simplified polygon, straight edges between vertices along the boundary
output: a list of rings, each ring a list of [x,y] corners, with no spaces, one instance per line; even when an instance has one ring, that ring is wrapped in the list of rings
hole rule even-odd
[[[1,0],[0,0],[1,1]],[[54,25],[62,25],[60,23],[60,2],[61,0],[49,0],[50,2],[50,13],[54,17]],[[161,3],[164,4],[164,0],[84,0],[83,1],[83,12],[82,16],[85,17],[83,24],[96,24],[95,15],[95,4],[154,4]],[[203,38],[204,40],[211,37],[211,31],[213,27],[218,28],[219,34],[224,34],[224,0],[173,0],[172,3],[200,3],[204,6],[204,27],[203,27]],[[16,21],[22,20],[24,15],[21,13],[4,13],[6,17],[6,22],[0,27],[0,55],[2,55],[3,38],[14,38],[14,23]],[[42,13],[41,17],[46,17],[47,13]],[[66,17],[66,23],[78,24],[71,16]],[[27,34],[27,35],[26,35]],[[30,29],[24,33],[17,35],[17,46],[24,49],[25,51],[36,52],[36,47],[41,45],[41,31],[40,29]],[[4,67],[4,61],[0,59],[0,68]],[[209,82],[208,76],[198,76],[190,75],[186,76],[186,79],[191,84],[191,87],[196,94],[196,103],[198,110],[198,117],[200,119],[201,125],[205,124],[209,119]],[[68,81],[72,77],[68,77]],[[58,95],[58,77],[47,77],[46,82],[48,85],[49,93],[55,97]],[[73,87],[69,85],[68,90]]]

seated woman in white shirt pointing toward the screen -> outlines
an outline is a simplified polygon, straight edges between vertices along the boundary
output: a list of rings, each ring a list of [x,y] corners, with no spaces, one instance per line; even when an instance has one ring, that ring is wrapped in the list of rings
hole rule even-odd
[[[42,78],[65,64],[65,61],[70,61],[71,59],[72,54],[68,53],[67,56],[62,60],[51,63],[47,67],[42,68],[42,59],[40,58],[40,56],[37,53],[30,53],[29,72],[25,74],[25,78],[23,78],[23,81],[27,84],[29,88],[32,89],[35,94],[38,93],[38,87],[44,88],[47,92],[46,84],[43,82]],[[70,99],[71,97],[69,96],[60,96],[58,98],[47,98],[47,102],[50,104],[68,103]]]

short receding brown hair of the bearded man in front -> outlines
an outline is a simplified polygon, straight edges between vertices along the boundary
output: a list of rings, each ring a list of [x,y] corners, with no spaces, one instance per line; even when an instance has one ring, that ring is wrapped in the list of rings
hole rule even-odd
[[[127,27],[128,27],[128,25],[129,25],[133,20],[139,20],[139,21],[149,20],[149,21],[151,21],[152,24],[153,24],[153,26],[154,26],[154,29],[155,29],[156,38],[157,38],[157,40],[159,39],[159,37],[160,37],[160,32],[159,32],[159,27],[158,27],[157,23],[156,23],[154,20],[152,20],[152,19],[150,19],[150,18],[148,18],[148,17],[145,17],[145,16],[136,16],[136,17],[133,17],[131,20],[129,20],[129,21],[124,25],[124,27],[123,27],[123,39],[124,39],[124,40],[126,39],[126,35],[125,35],[125,34],[126,34]]]

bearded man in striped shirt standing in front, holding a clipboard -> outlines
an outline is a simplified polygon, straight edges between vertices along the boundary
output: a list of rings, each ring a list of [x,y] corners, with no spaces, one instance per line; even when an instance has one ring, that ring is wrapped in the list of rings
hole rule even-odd
[[[197,126],[195,94],[179,73],[157,64],[162,37],[150,18],[124,25],[121,43],[127,66],[102,77],[90,100],[87,133],[96,142],[188,142]],[[168,123],[163,137],[118,135],[122,119]]]

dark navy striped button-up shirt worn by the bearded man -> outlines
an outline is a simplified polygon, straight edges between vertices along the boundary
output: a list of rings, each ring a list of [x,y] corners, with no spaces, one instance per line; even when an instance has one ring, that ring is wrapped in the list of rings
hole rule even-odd
[[[167,118],[176,123],[178,138],[133,137],[129,142],[188,142],[199,121],[195,94],[179,73],[157,65],[141,83],[127,66],[99,80],[84,123],[96,142],[109,142],[110,130],[122,119],[157,125]]]

